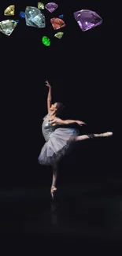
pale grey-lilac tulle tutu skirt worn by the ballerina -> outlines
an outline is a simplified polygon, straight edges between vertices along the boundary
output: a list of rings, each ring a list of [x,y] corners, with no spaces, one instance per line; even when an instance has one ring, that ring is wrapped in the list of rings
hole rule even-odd
[[[54,165],[68,153],[74,143],[74,138],[79,135],[75,128],[57,128],[50,135],[39,154],[40,165]]]

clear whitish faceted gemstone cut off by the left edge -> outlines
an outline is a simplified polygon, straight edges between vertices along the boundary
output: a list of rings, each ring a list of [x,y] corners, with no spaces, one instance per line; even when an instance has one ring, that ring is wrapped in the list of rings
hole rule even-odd
[[[0,32],[5,35],[11,35],[16,26],[17,22],[15,20],[3,20],[0,22]]]

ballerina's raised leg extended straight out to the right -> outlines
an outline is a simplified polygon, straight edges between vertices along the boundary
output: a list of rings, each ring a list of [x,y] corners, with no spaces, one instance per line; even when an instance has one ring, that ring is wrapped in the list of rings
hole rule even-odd
[[[80,135],[76,137],[76,141],[84,140],[84,139],[91,139],[91,138],[98,138],[98,137],[109,137],[112,136],[113,132],[104,132],[100,134],[90,134],[90,135]]]

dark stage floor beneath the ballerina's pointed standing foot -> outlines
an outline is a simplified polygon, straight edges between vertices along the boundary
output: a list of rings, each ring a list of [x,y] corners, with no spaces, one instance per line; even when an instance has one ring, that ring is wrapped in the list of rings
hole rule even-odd
[[[49,250],[51,255],[54,250],[65,255],[79,250],[85,255],[91,250],[96,254],[120,254],[120,194],[120,179],[107,180],[107,184],[58,187],[54,202],[49,187],[2,190],[2,239],[14,250],[17,247],[17,255],[25,251],[38,254],[39,250],[45,255]]]

